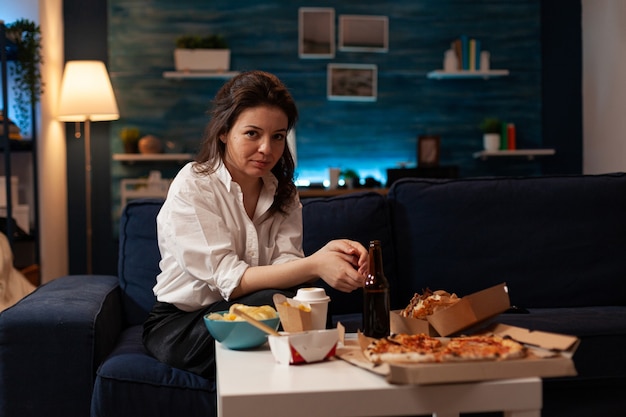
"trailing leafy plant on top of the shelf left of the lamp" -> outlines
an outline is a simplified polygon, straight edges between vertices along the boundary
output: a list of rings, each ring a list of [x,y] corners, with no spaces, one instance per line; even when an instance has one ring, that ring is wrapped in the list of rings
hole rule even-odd
[[[15,61],[10,67],[15,96],[15,121],[22,130],[28,129],[30,109],[43,93],[41,81],[41,30],[27,19],[16,20],[6,27],[6,37],[15,44]]]

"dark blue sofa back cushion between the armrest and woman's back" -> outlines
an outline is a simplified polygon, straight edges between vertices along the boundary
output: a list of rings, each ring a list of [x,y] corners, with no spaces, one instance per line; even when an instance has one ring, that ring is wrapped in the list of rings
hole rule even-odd
[[[156,216],[162,205],[158,199],[131,200],[122,211],[118,275],[129,324],[143,323],[156,301],[152,287],[161,272]]]

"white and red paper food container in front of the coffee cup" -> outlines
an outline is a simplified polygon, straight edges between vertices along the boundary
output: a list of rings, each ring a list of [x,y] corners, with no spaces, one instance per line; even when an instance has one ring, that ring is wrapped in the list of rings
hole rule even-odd
[[[337,329],[268,336],[272,355],[284,365],[319,362],[335,356],[339,332]]]

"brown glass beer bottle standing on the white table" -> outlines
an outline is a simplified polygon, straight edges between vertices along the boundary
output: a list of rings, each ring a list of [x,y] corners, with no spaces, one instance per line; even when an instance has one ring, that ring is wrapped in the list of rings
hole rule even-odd
[[[363,334],[389,336],[389,281],[383,272],[383,253],[379,240],[370,242],[369,273],[363,286]]]

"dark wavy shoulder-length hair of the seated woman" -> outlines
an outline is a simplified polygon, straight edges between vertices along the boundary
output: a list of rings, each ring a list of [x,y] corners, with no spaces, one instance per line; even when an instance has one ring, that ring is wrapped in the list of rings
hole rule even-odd
[[[230,79],[217,92],[212,101],[209,121],[202,138],[200,151],[195,159],[195,169],[211,173],[226,154],[226,144],[219,138],[230,131],[244,110],[269,106],[282,110],[287,116],[287,131],[298,120],[298,108],[287,87],[273,74],[263,71],[247,71]],[[289,146],[272,169],[278,179],[274,203],[270,211],[286,213],[296,194],[294,184],[295,163]]]

